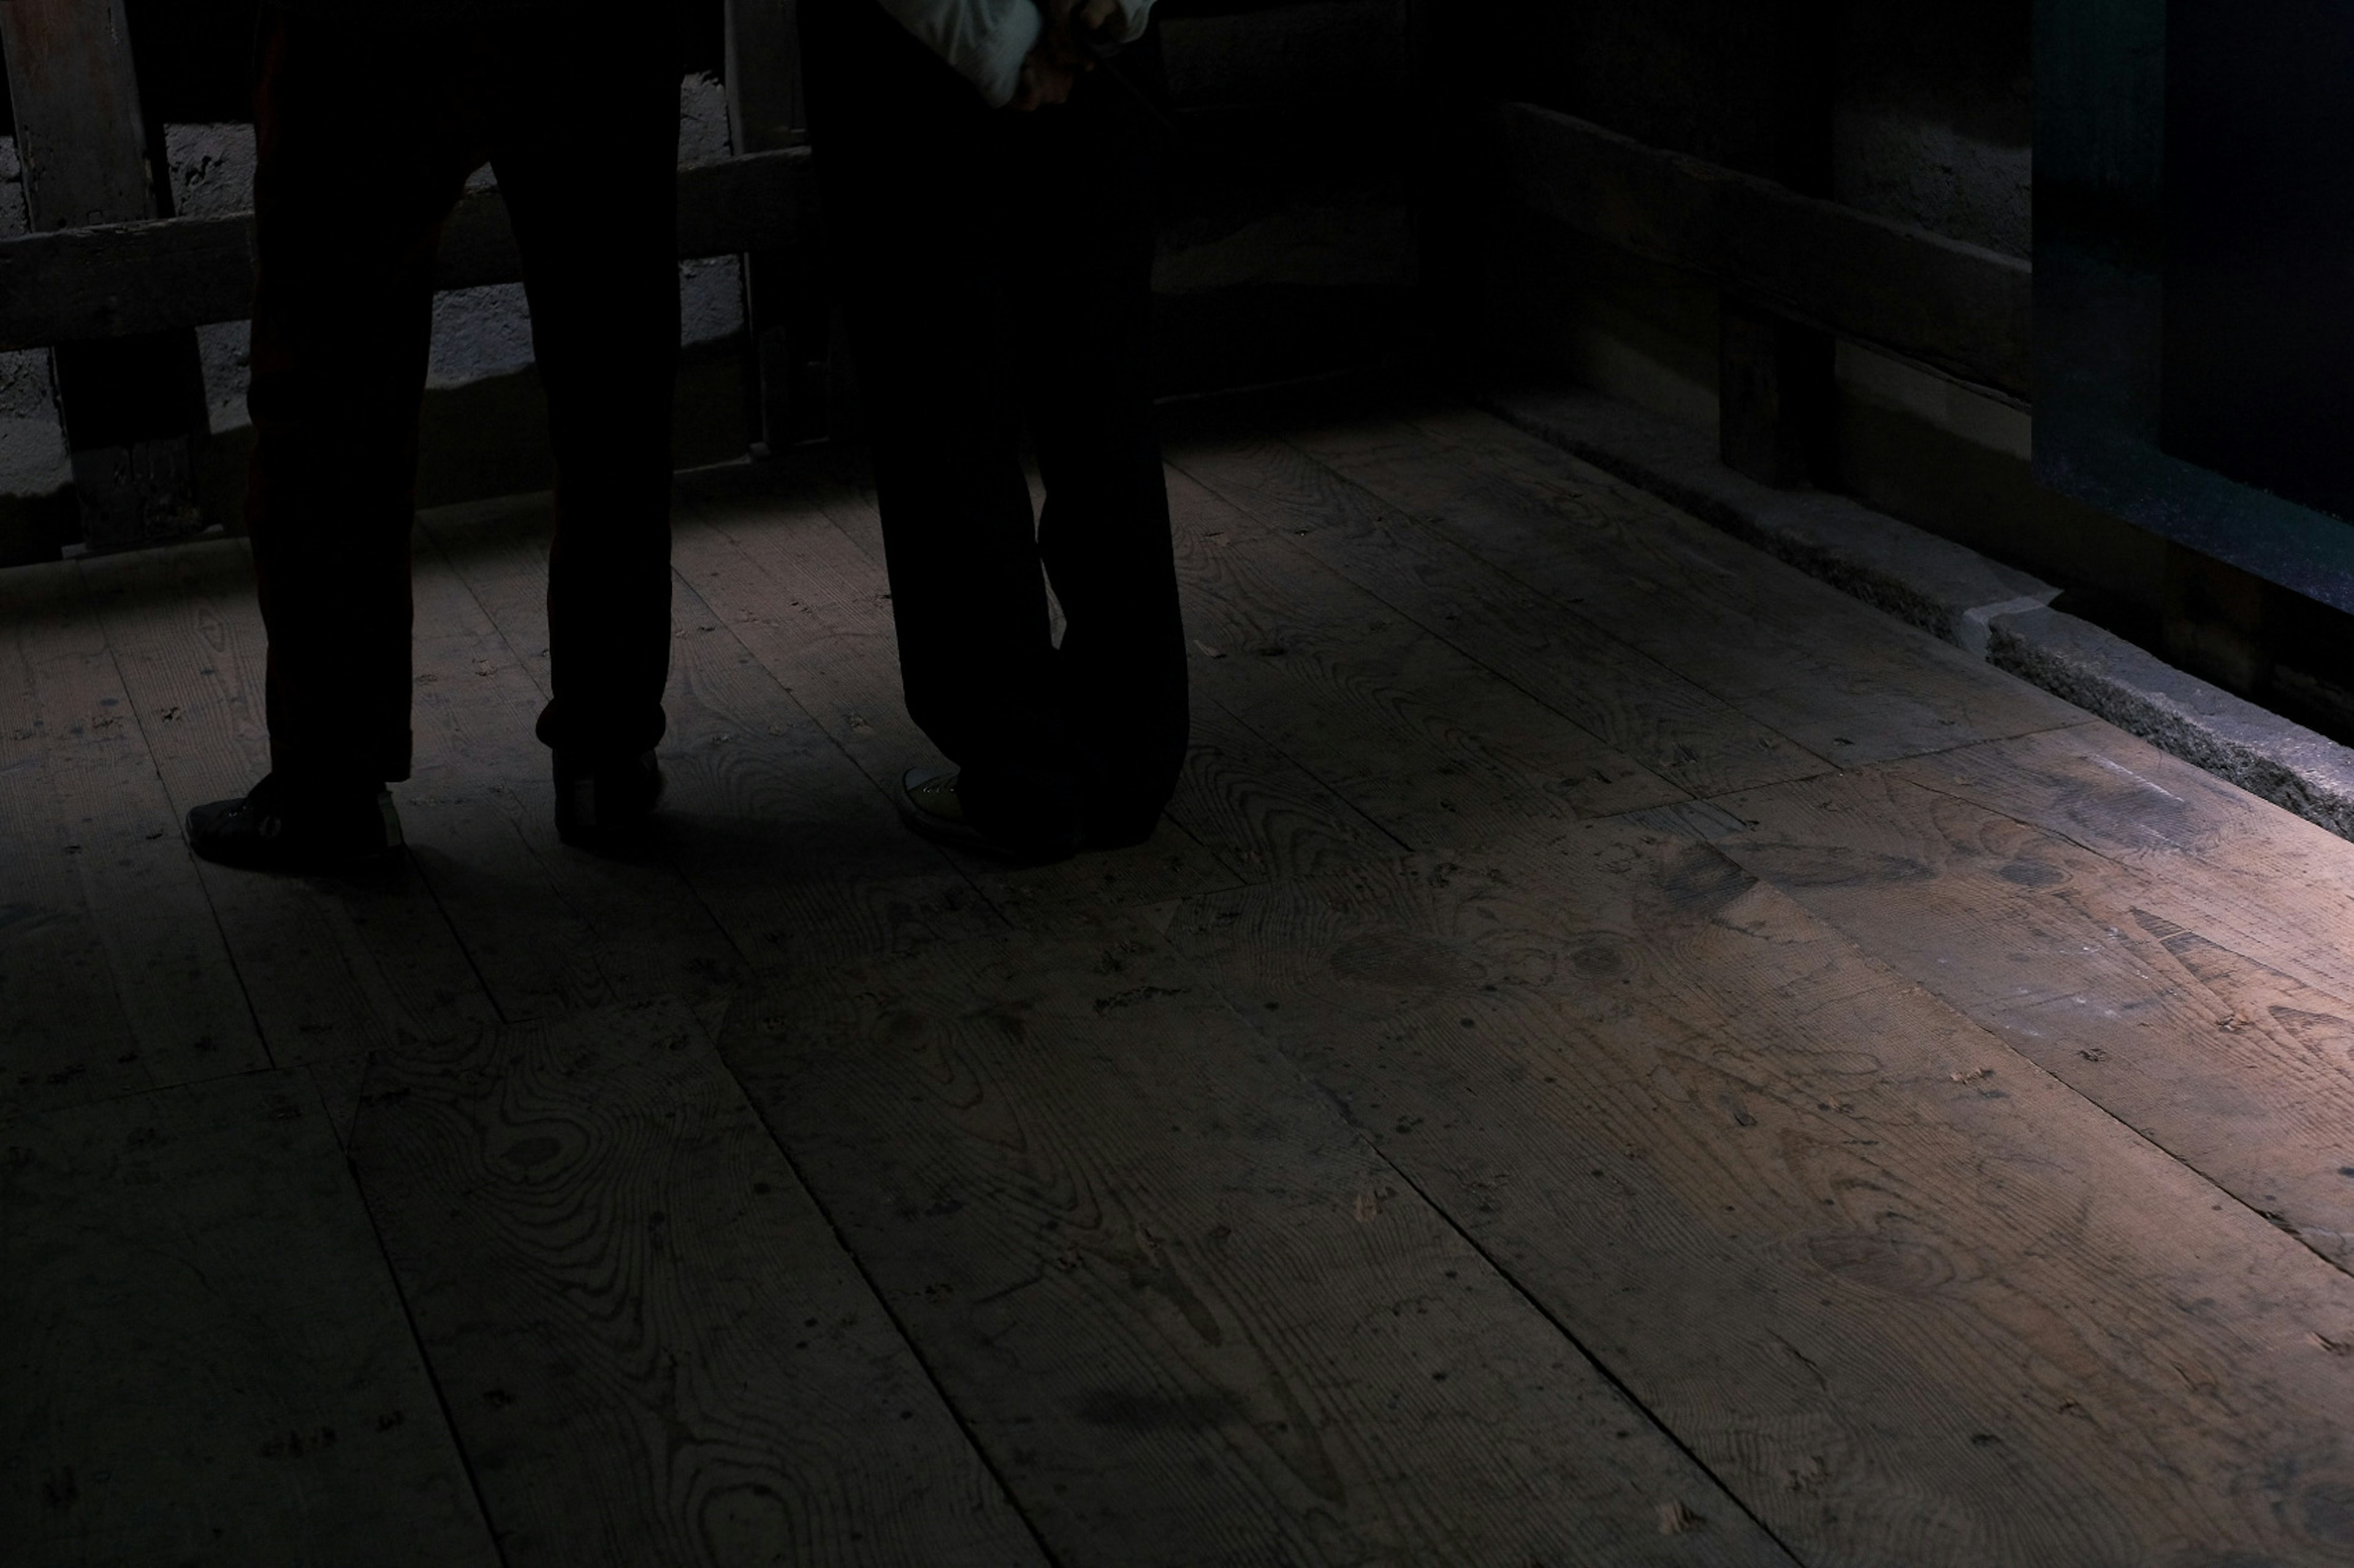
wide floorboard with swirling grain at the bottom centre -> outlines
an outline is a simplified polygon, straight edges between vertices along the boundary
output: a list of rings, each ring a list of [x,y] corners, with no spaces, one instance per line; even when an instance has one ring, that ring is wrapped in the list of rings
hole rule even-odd
[[[1057,1561],[1787,1561],[1137,925],[723,1050]]]

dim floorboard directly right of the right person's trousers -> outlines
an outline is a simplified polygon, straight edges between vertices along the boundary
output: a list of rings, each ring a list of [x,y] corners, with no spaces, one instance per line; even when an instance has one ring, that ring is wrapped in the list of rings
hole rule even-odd
[[[1683,791],[1172,476],[1196,687],[1415,848]]]

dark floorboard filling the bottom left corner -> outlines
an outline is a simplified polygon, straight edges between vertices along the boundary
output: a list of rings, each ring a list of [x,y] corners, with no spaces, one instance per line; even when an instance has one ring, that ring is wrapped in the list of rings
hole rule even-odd
[[[299,1074],[0,1142],[12,1563],[501,1561]]]

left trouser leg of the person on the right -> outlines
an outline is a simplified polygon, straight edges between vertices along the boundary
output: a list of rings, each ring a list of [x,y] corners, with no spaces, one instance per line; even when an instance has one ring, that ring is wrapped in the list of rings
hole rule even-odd
[[[1008,127],[873,0],[803,7],[817,167],[850,315],[909,716],[1012,843],[1078,829],[1022,473]]]

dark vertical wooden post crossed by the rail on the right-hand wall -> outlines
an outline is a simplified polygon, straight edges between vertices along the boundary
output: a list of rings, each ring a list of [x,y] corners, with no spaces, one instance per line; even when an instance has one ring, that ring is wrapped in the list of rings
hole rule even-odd
[[[1831,193],[1838,94],[1834,0],[1773,0],[1766,160],[1801,195]],[[1725,294],[1718,306],[1716,431],[1728,469],[1768,485],[1829,485],[1836,346],[1829,332]]]

